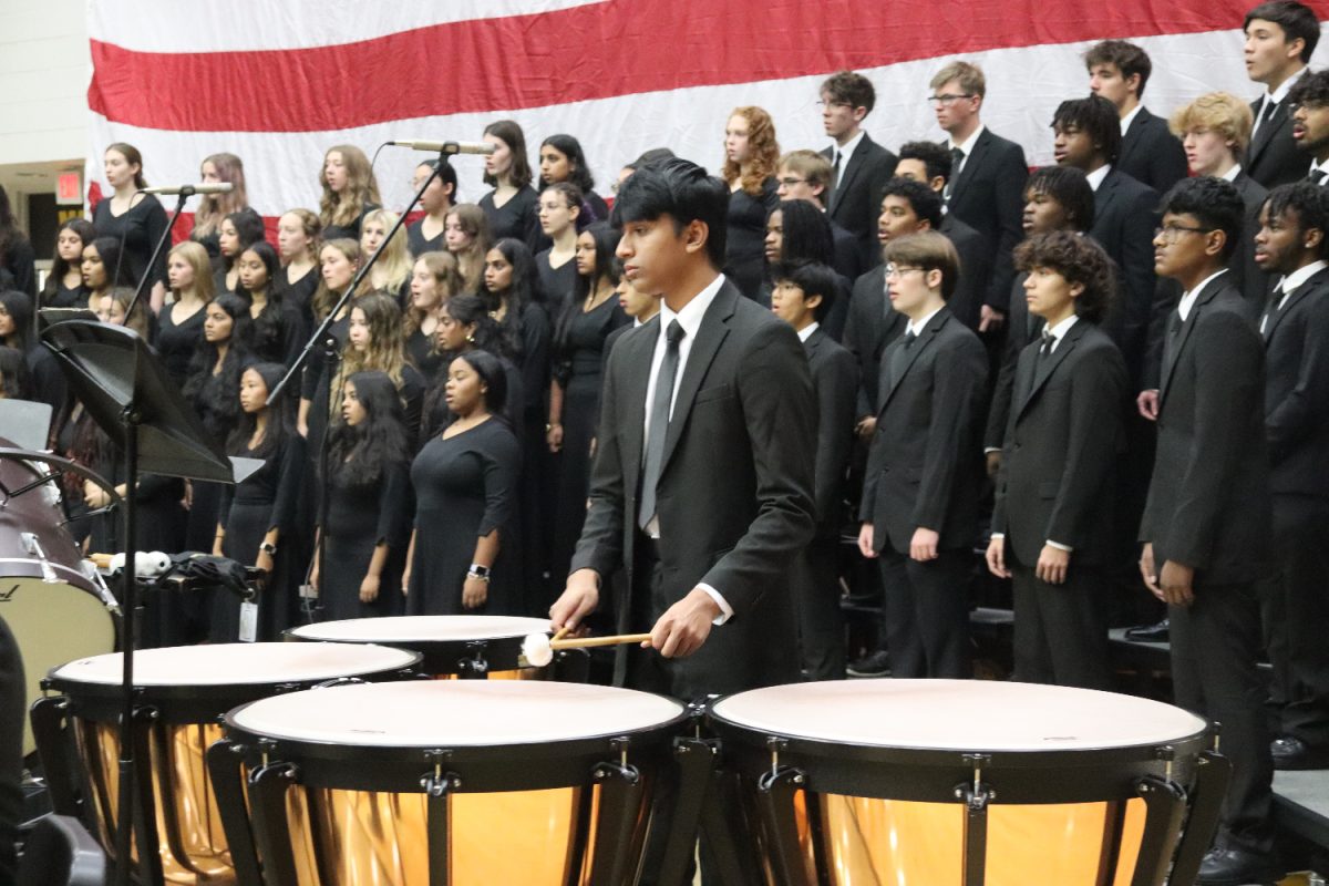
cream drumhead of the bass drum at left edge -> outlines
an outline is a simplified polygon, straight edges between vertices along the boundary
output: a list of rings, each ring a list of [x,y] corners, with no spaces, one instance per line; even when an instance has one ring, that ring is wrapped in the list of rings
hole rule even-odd
[[[41,697],[41,679],[52,668],[116,648],[110,611],[98,598],[70,584],[48,584],[40,578],[3,579],[0,616],[19,642],[29,708]],[[23,729],[23,753],[28,756],[37,749],[28,717]]]

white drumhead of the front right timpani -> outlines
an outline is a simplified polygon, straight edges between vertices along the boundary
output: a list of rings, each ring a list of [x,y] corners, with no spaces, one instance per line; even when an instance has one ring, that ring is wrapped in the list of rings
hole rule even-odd
[[[768,735],[958,752],[1164,745],[1205,731],[1180,708],[1115,692],[990,680],[835,680],[740,692],[716,717]]]

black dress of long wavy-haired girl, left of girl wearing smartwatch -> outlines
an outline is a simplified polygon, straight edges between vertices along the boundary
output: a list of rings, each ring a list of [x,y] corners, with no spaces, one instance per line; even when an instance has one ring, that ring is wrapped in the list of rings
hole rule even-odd
[[[352,484],[347,472],[334,466],[328,484],[328,517],[323,527],[323,570],[319,603],[323,619],[400,615],[401,571],[411,541],[411,477],[405,462],[383,465],[376,482]],[[388,559],[379,574],[379,598],[360,602],[360,582],[369,571],[373,549],[388,545]]]

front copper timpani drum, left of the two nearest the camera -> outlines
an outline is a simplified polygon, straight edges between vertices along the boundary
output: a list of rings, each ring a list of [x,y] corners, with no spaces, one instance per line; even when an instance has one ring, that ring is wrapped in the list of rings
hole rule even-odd
[[[230,712],[209,762],[245,883],[634,883],[687,719],[579,683],[336,687]]]

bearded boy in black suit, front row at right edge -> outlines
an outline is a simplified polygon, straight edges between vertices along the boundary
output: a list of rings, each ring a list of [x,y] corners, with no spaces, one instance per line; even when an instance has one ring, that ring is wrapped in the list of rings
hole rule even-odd
[[[1282,279],[1260,317],[1265,347],[1276,576],[1265,648],[1280,708],[1273,765],[1329,766],[1329,201],[1298,182],[1269,193],[1256,258]]]

